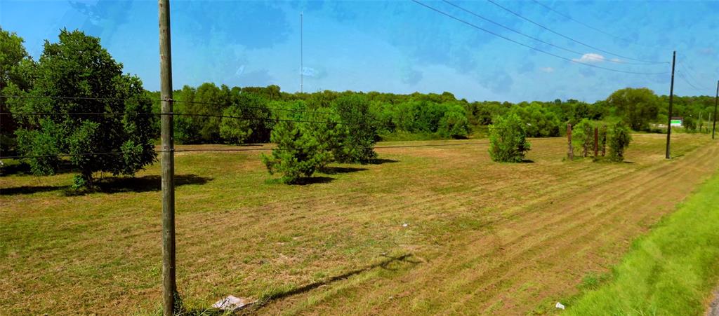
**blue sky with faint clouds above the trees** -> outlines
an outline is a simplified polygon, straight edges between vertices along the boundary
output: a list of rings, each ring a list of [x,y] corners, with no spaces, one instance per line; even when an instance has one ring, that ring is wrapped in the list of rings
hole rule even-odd
[[[719,1],[500,1],[585,47],[504,11],[487,0],[452,1],[475,14],[544,42],[535,42],[442,1],[424,1],[447,14],[539,50],[615,73],[549,56],[480,31],[436,11],[403,1],[171,1],[173,84],[280,85],[300,89],[303,12],[304,90],[449,91],[470,101],[595,101],[625,87],[669,93],[677,50],[678,95],[713,95],[719,79]],[[101,38],[102,45],[159,87],[157,1],[0,0],[0,25],[25,40],[30,55],[63,27]],[[608,34],[605,34],[608,33]],[[611,60],[615,60],[612,62]],[[682,77],[683,76],[683,77]],[[696,88],[684,80],[690,81]]]

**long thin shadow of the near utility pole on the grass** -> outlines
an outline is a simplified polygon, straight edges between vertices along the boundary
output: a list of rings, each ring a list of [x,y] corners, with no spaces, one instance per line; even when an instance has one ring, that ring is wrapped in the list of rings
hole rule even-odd
[[[370,271],[375,268],[381,268],[389,271],[395,271],[397,269],[390,268],[390,264],[394,262],[408,262],[411,264],[419,264],[419,261],[411,261],[412,254],[403,254],[401,256],[388,256],[387,259],[377,262],[376,264],[371,264],[369,266],[365,266],[364,268],[347,271],[343,274],[339,274],[336,276],[329,277],[327,279],[324,279],[319,282],[313,282],[310,284],[303,285],[301,287],[294,287],[291,289],[280,289],[275,292],[271,292],[270,294],[266,294],[264,297],[262,297],[257,302],[253,303],[252,305],[248,305],[247,307],[244,307],[242,310],[239,310],[235,313],[229,313],[222,310],[217,309],[197,309],[197,310],[184,310],[182,315],[235,315],[235,314],[242,314],[242,315],[254,315],[256,314],[262,307],[269,304],[270,302],[277,300],[277,299],[283,299],[285,297],[290,297],[292,295],[296,294],[302,294],[308,291],[311,291],[313,289],[316,289],[318,287],[322,287],[324,285],[331,284],[332,282],[341,281],[343,279],[348,279],[350,276],[354,276],[357,274],[360,274],[365,271]]]

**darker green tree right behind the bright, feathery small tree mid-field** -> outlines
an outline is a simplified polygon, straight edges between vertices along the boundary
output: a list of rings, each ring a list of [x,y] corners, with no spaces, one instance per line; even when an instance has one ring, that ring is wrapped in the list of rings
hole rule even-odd
[[[341,127],[347,129],[341,147],[333,151],[334,159],[349,163],[367,163],[375,159],[377,126],[367,98],[354,94],[337,98],[331,104]]]

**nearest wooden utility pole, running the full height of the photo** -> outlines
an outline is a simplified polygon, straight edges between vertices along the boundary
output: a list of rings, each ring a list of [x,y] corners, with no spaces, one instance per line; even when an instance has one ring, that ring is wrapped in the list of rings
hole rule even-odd
[[[162,314],[175,313],[175,145],[173,144],[173,62],[170,0],[157,0],[160,11],[160,102],[162,115]]]

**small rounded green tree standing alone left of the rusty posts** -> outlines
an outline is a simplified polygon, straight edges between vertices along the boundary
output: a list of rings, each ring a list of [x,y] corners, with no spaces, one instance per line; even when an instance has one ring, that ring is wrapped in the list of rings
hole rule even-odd
[[[490,157],[495,162],[522,162],[531,144],[525,125],[515,113],[497,116],[490,125]]]

